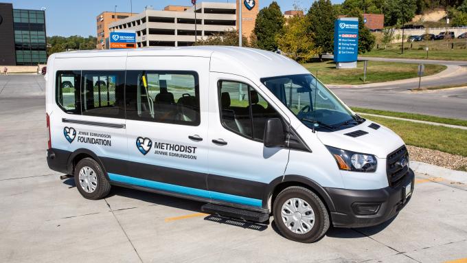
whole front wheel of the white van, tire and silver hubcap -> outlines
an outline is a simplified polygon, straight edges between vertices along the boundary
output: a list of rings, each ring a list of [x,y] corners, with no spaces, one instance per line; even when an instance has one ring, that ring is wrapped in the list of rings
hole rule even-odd
[[[319,240],[330,225],[323,201],[305,187],[292,186],[280,192],[274,201],[273,215],[280,233],[297,242]]]

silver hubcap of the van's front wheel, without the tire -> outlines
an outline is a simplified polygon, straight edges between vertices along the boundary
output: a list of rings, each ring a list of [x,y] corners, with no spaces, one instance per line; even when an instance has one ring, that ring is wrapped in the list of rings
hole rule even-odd
[[[290,198],[281,209],[282,221],[293,233],[308,233],[315,225],[315,212],[301,198]]]

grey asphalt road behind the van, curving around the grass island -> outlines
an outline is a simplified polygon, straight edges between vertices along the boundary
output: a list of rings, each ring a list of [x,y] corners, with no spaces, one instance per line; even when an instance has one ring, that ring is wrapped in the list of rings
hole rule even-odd
[[[327,56],[332,58],[332,56]],[[397,58],[361,58],[362,60],[442,64],[450,67],[440,77],[422,78],[422,87],[440,87],[444,85],[466,85],[467,61],[451,60],[412,60]],[[365,84],[359,87],[328,85],[345,104],[362,108],[374,108],[387,111],[402,111],[467,119],[467,89],[445,89],[429,93],[415,93],[410,89],[418,88],[418,80],[405,80],[387,83]]]

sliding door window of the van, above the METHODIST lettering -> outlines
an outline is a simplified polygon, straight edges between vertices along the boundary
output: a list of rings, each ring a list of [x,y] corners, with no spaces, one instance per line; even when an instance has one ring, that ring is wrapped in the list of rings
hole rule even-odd
[[[192,71],[126,71],[126,118],[198,126],[198,86]]]

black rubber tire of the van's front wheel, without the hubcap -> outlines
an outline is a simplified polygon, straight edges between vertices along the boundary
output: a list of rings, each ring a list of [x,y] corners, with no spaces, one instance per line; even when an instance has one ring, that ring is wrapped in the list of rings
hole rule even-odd
[[[313,209],[313,212],[315,213],[315,224],[312,226],[310,231],[306,233],[294,233],[288,229],[282,220],[282,205],[284,205],[284,203],[286,203],[290,198],[301,198]],[[326,209],[321,198],[312,191],[300,186],[287,187],[277,195],[273,204],[273,216],[275,226],[279,229],[280,233],[282,233],[284,237],[297,242],[315,242],[324,236],[330,226],[328,209]]]

